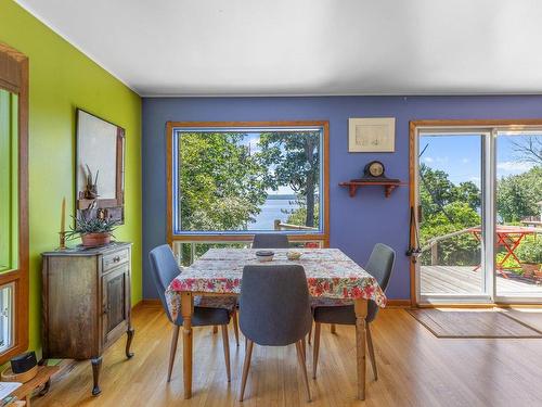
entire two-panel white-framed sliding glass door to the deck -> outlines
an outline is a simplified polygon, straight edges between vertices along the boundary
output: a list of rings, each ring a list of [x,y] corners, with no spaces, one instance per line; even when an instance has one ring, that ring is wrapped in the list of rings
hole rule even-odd
[[[421,303],[542,302],[542,131],[420,128]]]

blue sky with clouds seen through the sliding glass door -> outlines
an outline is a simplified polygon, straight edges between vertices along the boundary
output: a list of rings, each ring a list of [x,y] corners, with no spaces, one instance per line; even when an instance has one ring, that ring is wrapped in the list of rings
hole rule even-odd
[[[517,158],[511,139],[517,136],[498,136],[496,175],[502,178],[521,174],[533,167]],[[542,136],[537,136],[542,137]],[[434,169],[442,169],[449,174],[452,182],[473,181],[478,187],[481,178],[481,136],[423,136],[420,139],[420,151],[427,149],[421,162]]]

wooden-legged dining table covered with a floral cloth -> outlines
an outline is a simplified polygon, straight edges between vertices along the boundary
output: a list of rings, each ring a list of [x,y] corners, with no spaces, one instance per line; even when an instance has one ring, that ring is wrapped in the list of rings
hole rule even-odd
[[[317,298],[335,298],[339,304],[353,303],[356,311],[357,395],[365,399],[365,317],[367,301],[379,307],[386,296],[376,279],[338,249],[295,249],[299,259],[287,258],[288,249],[273,249],[272,262],[261,263],[256,249],[210,249],[191,266],[183,267],[166,290],[169,313],[175,320],[182,315],[184,398],[192,397],[194,296],[238,296],[243,268],[247,265],[301,265],[309,294]],[[243,311],[241,309],[241,311]],[[262,321],[262,323],[264,323]]]

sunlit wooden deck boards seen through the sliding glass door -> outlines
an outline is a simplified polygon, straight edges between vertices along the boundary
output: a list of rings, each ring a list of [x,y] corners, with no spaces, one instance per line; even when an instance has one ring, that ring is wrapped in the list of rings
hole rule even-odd
[[[422,294],[473,294],[480,293],[482,287],[481,270],[474,271],[474,267],[454,266],[422,266]],[[542,283],[521,278],[503,278],[498,275],[496,287],[499,294],[529,294],[542,296]]]

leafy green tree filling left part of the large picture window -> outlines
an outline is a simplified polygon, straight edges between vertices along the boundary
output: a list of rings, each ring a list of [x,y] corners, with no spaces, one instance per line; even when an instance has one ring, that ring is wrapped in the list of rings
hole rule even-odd
[[[182,133],[180,208],[183,230],[243,230],[266,201],[267,167],[240,133]]]

